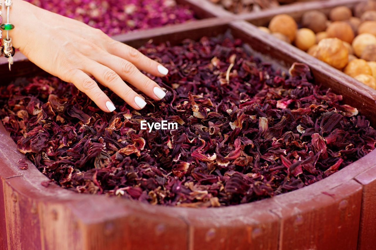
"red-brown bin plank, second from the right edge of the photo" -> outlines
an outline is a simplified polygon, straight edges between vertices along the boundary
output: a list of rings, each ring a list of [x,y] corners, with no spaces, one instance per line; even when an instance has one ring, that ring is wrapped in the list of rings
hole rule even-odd
[[[281,218],[280,250],[356,249],[362,185],[351,180],[314,197],[284,198],[275,197],[282,209],[273,210]]]

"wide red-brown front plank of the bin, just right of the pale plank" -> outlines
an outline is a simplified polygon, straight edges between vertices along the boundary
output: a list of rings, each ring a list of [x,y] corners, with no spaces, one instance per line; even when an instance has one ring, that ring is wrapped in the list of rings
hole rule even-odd
[[[188,225],[176,213],[166,212],[171,208],[88,197],[68,206],[79,218],[85,249],[188,249]]]

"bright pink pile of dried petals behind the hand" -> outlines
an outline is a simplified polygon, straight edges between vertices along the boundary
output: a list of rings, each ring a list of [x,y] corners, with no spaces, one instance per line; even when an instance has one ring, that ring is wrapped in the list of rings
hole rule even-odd
[[[195,19],[175,0],[26,0],[65,17],[82,21],[107,35],[150,29]]]

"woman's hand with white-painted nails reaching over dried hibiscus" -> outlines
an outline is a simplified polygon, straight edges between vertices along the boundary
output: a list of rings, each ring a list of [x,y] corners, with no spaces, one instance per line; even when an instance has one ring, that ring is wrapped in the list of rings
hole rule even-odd
[[[114,104],[90,76],[135,109],[146,102],[123,80],[155,100],[165,96],[138,69],[155,76],[166,75],[168,69],[98,29],[22,0],[13,0],[9,21],[15,26],[9,33],[15,48],[44,71],[73,83],[103,111],[114,111]]]

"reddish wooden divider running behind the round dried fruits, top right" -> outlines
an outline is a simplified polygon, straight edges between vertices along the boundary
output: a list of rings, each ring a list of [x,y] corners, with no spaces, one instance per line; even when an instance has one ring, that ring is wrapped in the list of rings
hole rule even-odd
[[[256,13],[237,15],[238,20],[247,20],[256,26],[267,26],[269,21],[278,14],[291,15],[298,23],[302,20],[302,15],[311,10],[317,10],[329,14],[331,9],[336,6],[347,6],[353,8],[356,4],[366,2],[367,0],[329,0],[296,3],[293,5],[285,5],[276,9],[269,9]]]

